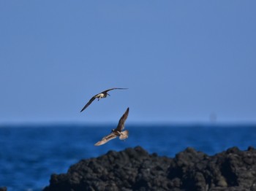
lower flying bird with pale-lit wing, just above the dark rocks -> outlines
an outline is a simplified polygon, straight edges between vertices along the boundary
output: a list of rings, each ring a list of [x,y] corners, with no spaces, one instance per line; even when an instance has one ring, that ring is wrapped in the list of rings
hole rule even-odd
[[[127,108],[127,111],[123,114],[123,116],[120,118],[116,129],[111,130],[111,133],[108,136],[103,137],[101,141],[98,141],[94,145],[99,146],[99,145],[105,144],[111,139],[115,139],[117,136],[119,136],[120,140],[127,139],[129,131],[124,130],[124,122],[127,120],[128,114],[129,114],[129,107]]]

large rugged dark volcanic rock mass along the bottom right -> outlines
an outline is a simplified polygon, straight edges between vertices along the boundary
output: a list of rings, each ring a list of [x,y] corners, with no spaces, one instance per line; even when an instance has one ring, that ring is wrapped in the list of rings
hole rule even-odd
[[[255,190],[256,150],[237,147],[214,156],[187,148],[174,158],[141,147],[81,160],[53,174],[52,190]]]

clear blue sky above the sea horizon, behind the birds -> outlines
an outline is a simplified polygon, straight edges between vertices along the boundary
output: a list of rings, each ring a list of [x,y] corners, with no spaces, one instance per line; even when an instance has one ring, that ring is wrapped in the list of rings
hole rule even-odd
[[[256,1],[0,1],[2,122],[256,122]],[[80,109],[111,87],[110,97]]]

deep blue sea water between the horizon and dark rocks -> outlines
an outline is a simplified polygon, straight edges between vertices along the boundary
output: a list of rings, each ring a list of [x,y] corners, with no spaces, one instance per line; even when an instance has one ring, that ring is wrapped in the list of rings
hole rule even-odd
[[[140,146],[174,157],[187,147],[214,155],[229,147],[256,147],[256,125],[127,125],[129,139],[94,144],[115,125],[0,126],[0,187],[42,190],[51,174],[66,173],[82,159]]]

